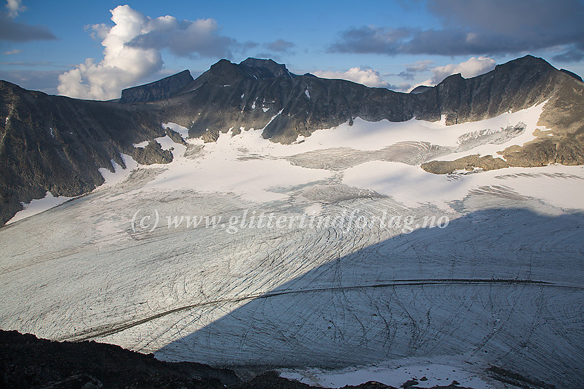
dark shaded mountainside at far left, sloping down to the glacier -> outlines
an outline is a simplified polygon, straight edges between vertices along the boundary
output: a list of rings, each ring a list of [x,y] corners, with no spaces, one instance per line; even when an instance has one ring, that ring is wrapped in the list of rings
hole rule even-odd
[[[47,191],[93,190],[104,182],[100,167],[125,167],[122,153],[148,163],[133,143],[165,134],[151,107],[49,96],[4,81],[0,117],[0,226]]]

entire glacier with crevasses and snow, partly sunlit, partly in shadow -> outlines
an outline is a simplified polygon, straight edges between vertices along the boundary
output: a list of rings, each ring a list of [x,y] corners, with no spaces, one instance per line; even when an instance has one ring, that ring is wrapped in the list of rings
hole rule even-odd
[[[574,387],[584,168],[420,168],[553,136],[542,109],[356,119],[292,145],[159,138],[172,163],[124,156],[92,193],[48,193],[0,229],[0,327],[323,386],[504,388],[485,373],[500,366]]]

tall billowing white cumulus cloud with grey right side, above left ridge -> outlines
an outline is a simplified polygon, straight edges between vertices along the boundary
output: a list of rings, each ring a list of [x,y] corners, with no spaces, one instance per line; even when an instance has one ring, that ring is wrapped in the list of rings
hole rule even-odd
[[[178,21],[174,16],[150,18],[129,5],[111,12],[113,27],[96,24],[88,27],[93,38],[101,39],[104,57],[100,62],[85,62],[59,76],[58,92],[83,99],[113,99],[122,89],[162,68],[161,51],[189,56],[229,54],[234,40],[218,34],[213,19]]]

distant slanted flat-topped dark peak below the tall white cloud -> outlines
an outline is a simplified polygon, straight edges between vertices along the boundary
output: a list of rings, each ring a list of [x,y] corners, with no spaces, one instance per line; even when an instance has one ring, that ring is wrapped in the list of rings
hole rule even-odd
[[[162,80],[150,82],[133,88],[124,89],[120,103],[143,103],[166,99],[175,95],[178,91],[193,82],[190,71],[183,70],[175,75],[170,75]]]

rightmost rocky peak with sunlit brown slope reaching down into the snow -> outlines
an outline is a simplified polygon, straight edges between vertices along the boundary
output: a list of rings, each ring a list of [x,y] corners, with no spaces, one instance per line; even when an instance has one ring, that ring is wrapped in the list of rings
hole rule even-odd
[[[535,63],[536,66],[522,69],[521,61]],[[524,86],[519,86],[517,82],[521,78],[524,79]],[[508,80],[509,86],[495,89],[488,87],[493,82],[491,80],[497,79],[502,82]],[[512,97],[514,104],[509,107],[511,111],[547,102],[538,124],[546,126],[551,133],[540,132],[537,139],[523,147],[515,146],[503,150],[500,154],[506,161],[491,156],[479,158],[478,155],[473,155],[456,161],[432,161],[423,164],[423,169],[436,174],[447,174],[457,169],[473,167],[491,170],[512,166],[537,167],[550,163],[584,163],[584,84],[573,75],[558,71],[540,58],[527,56],[498,65],[489,73],[465,80],[465,84],[461,91],[464,91],[467,96],[465,99],[475,107],[484,106],[489,101],[505,100],[510,93],[515,93]],[[478,98],[480,91],[488,91],[489,99],[484,96]],[[520,106],[521,100],[526,102],[523,107]],[[464,108],[462,110],[464,112]]]

